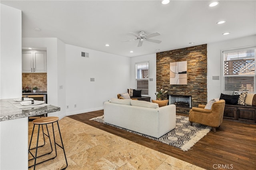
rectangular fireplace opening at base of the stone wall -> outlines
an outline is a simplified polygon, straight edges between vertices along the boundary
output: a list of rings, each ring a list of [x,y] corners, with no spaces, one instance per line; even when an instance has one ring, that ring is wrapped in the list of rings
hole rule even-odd
[[[167,95],[169,99],[169,105],[174,104],[176,107],[188,107],[191,108],[192,97],[186,95]]]

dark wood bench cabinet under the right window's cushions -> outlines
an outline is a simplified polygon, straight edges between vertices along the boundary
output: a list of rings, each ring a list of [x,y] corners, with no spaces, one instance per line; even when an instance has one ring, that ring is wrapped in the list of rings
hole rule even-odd
[[[256,123],[256,107],[225,105],[223,118],[239,122]]]

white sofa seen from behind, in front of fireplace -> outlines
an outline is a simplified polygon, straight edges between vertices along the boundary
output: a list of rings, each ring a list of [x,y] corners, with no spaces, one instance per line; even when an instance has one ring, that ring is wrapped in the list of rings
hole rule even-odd
[[[104,122],[160,138],[176,127],[176,106],[131,99],[104,103]]]

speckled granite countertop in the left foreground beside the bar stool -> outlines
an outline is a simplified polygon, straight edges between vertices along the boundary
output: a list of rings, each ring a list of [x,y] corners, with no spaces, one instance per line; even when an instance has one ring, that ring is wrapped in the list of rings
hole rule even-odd
[[[17,104],[12,104],[9,102],[10,100],[13,99],[0,99],[0,121],[8,121],[12,119],[38,116],[46,113],[60,111],[60,107],[56,107],[53,105],[43,107],[35,105],[35,107],[18,109],[14,105],[20,105],[20,103],[17,102]]]

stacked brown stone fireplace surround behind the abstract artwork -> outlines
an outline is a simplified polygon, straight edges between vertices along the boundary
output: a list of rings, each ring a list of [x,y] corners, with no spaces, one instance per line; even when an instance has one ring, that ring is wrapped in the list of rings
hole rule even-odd
[[[170,85],[170,62],[188,62],[188,84]],[[156,91],[162,88],[172,95],[191,96],[191,107],[207,103],[207,44],[156,53]],[[167,94],[162,100],[168,99]],[[176,107],[177,113],[189,113],[189,107]]]

